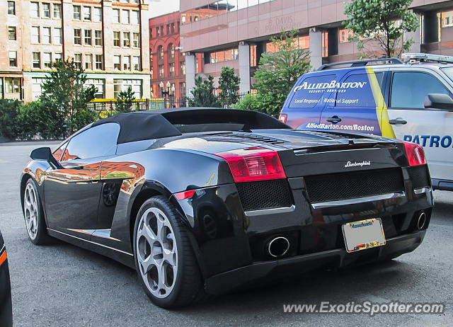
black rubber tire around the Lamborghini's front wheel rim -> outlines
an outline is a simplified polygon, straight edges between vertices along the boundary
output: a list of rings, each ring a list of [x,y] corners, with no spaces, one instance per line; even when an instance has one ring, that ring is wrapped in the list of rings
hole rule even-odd
[[[35,205],[30,206],[28,209],[27,203],[27,192],[31,194],[31,190],[29,188],[33,188],[33,192],[35,195]],[[27,183],[25,183],[25,190],[23,195],[23,216],[25,219],[25,228],[27,229],[28,238],[32,241],[35,245],[44,245],[48,244],[52,241],[52,238],[47,234],[47,226],[45,224],[44,218],[44,210],[42,208],[42,202],[40,198],[40,194],[38,193],[38,186],[36,185],[35,180],[33,178],[28,178]],[[34,207],[36,206],[36,207]],[[30,217],[30,212],[36,215],[36,219],[34,219],[34,223],[31,229],[29,229],[29,221],[28,217]],[[36,226],[35,226],[36,223]],[[33,230],[33,231],[32,231]]]

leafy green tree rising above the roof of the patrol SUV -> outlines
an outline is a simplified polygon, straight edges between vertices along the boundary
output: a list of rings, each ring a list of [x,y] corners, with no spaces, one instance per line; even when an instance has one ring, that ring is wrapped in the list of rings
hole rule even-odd
[[[413,39],[403,41],[403,33],[418,28],[415,13],[409,11],[413,0],[352,0],[345,5],[345,28],[353,31],[350,38],[362,51],[369,41],[375,41],[386,57],[400,57],[409,50]],[[359,57],[372,57],[362,52]]]

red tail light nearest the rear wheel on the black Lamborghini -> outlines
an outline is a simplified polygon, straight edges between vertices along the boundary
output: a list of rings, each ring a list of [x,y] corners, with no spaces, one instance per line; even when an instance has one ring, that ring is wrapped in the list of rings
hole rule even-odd
[[[286,178],[277,151],[251,147],[215,155],[226,160],[235,183]]]

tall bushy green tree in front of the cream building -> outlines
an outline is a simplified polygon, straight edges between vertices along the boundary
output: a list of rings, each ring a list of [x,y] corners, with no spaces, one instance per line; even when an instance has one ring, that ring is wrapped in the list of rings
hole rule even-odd
[[[54,70],[42,84],[40,96],[42,125],[38,126],[42,137],[61,138],[93,122],[97,113],[87,108],[97,88],[85,86],[86,74],[76,67],[73,59],[57,60]]]

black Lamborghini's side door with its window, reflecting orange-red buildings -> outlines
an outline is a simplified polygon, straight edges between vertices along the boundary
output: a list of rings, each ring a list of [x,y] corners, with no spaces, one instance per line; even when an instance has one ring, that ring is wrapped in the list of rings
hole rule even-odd
[[[63,151],[62,168],[47,171],[45,210],[50,229],[91,239],[102,190],[101,161],[115,154],[119,131],[120,125],[108,123],[76,134]]]

